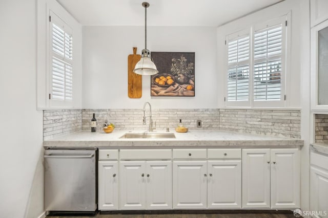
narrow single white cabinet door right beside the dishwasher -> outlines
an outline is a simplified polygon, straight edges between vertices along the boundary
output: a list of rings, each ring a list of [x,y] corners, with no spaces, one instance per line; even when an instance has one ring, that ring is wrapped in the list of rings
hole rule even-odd
[[[117,161],[98,161],[98,209],[118,209]]]

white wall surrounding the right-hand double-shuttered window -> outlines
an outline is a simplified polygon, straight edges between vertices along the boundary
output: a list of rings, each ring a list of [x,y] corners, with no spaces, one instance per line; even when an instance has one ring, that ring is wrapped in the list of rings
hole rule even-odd
[[[286,107],[299,108],[300,107],[300,1],[299,0],[285,0],[281,3],[257,11],[248,16],[234,20],[231,23],[218,27],[217,29],[217,52],[218,52],[218,72],[220,73],[218,79],[218,96],[219,108],[224,107],[223,96],[225,93],[224,73],[226,72],[226,48],[224,40],[226,35],[249,28],[253,24],[261,23],[276,17],[280,17],[291,12],[291,55],[290,55],[290,69],[286,70]]]

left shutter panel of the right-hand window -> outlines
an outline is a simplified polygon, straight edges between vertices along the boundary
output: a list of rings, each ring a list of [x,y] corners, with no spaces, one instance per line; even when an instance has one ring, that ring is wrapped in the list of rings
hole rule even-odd
[[[228,36],[227,100],[248,101],[250,83],[249,34]]]

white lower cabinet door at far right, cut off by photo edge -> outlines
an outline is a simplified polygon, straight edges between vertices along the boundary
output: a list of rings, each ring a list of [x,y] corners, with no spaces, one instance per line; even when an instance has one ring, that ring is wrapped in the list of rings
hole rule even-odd
[[[313,165],[310,169],[310,210],[316,213],[313,217],[328,217],[328,171]]]

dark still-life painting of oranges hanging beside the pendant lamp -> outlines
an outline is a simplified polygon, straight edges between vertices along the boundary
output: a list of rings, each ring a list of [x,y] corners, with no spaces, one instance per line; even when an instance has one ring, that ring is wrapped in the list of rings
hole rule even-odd
[[[152,52],[151,96],[195,96],[195,52]]]

